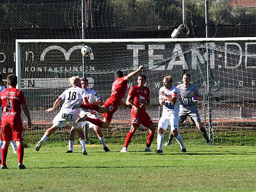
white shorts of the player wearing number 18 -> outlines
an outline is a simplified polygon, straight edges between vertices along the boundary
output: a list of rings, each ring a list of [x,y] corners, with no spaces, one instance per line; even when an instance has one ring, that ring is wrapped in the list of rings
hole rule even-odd
[[[77,118],[79,118],[79,115],[72,115],[68,113],[58,113],[54,119],[52,120],[52,123],[56,127],[63,127],[64,125],[71,125],[76,129],[79,129],[82,127],[81,122],[76,123]]]

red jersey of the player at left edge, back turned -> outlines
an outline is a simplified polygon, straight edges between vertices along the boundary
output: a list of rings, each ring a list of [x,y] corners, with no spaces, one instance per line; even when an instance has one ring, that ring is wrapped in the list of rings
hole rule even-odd
[[[2,124],[21,121],[20,104],[26,104],[23,92],[16,88],[8,88],[0,95],[0,105],[3,105]]]

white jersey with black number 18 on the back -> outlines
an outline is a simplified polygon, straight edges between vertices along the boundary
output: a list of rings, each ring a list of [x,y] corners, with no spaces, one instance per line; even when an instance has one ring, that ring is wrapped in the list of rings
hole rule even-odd
[[[67,113],[72,115],[79,114],[80,109],[72,110],[72,106],[74,104],[77,104],[78,102],[82,103],[84,97],[87,97],[87,92],[83,88],[79,88],[76,86],[70,87],[65,90],[60,95],[60,98],[64,100],[64,103],[60,109],[61,113]]]

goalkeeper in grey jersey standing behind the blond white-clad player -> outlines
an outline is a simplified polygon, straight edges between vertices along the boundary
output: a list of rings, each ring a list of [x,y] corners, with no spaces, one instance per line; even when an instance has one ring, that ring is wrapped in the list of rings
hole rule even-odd
[[[212,145],[207,132],[203,127],[200,115],[198,113],[198,100],[202,100],[202,95],[200,94],[197,86],[191,84],[190,74],[184,74],[182,77],[182,84],[179,84],[177,88],[179,89],[180,96],[180,111],[179,111],[179,124],[182,124],[189,116],[192,122],[200,129],[202,136],[204,136],[207,145]],[[169,140],[164,145],[170,145],[173,139],[172,132],[169,134]]]

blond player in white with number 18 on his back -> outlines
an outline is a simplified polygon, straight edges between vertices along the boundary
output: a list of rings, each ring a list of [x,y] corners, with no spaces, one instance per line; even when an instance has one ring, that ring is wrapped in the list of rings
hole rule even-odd
[[[81,81],[79,77],[71,77],[70,83],[72,84],[71,88],[65,90],[58,99],[55,100],[52,108],[46,110],[47,113],[54,111],[54,109],[60,104],[61,100],[64,100],[64,103],[60,109],[58,115],[54,117],[52,120],[53,125],[45,131],[44,136],[42,136],[41,140],[38,141],[36,145],[36,150],[40,150],[40,147],[44,143],[45,140],[55,132],[57,129],[63,127],[65,124],[70,124],[75,127],[76,131],[79,134],[79,140],[82,146],[82,154],[87,155],[85,148],[85,140],[84,140],[84,132],[81,126],[81,123],[76,123],[76,120],[79,118],[79,109],[72,109],[72,106],[77,102],[88,103],[87,100],[87,92],[83,88],[81,88]]]

